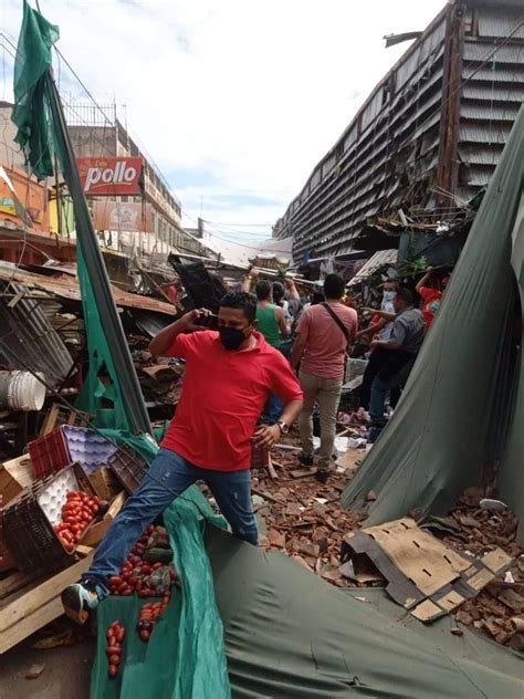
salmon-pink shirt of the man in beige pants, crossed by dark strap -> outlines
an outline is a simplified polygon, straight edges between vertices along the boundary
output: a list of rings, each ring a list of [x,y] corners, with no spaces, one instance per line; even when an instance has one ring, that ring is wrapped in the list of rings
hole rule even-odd
[[[331,307],[346,326],[352,344],[358,330],[357,312],[343,303],[332,304]],[[347,342],[329,312],[322,304],[304,309],[296,332],[307,337],[301,372],[344,380]]]

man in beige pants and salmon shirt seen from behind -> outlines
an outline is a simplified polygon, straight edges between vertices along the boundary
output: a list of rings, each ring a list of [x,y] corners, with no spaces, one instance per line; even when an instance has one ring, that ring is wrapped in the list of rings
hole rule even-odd
[[[300,417],[302,453],[298,460],[313,466],[313,408],[321,411],[321,451],[318,480],[327,479],[336,434],[336,413],[340,400],[346,352],[350,349],[358,328],[357,312],[345,306],[344,280],[328,274],[324,281],[325,303],[302,312],[297,337],[291,353],[291,365],[301,364],[300,379],[304,405]]]

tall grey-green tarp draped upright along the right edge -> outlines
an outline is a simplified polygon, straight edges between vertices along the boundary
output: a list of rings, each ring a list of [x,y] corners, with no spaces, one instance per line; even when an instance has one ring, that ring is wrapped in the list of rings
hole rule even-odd
[[[369,524],[446,513],[500,461],[500,494],[524,521],[523,173],[521,108],[402,398],[343,493],[348,509],[377,493]]]

